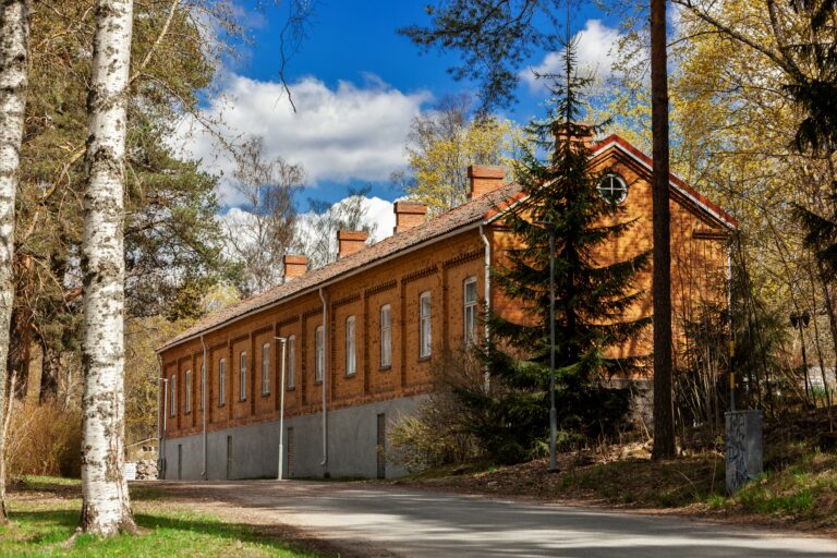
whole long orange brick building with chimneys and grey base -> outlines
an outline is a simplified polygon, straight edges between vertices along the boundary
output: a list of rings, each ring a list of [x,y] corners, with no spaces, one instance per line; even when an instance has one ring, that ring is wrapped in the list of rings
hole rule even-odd
[[[624,207],[620,218],[639,219],[603,262],[650,248],[650,159],[614,135],[593,147],[591,163],[609,169],[601,192]],[[284,284],[160,348],[166,477],[276,476],[282,407],[284,475],[401,474],[386,463],[387,424],[433,388],[434,362],[486,335],[481,301],[519,312],[492,289],[488,271],[513,242],[504,209],[523,193],[497,167],[473,167],[469,177],[462,206],[425,219],[422,205],[398,202],[391,236],[366,246],[364,233],[340,231],[339,259],[313,271],[304,256],[286,256]],[[703,299],[726,300],[726,239],[736,222],[675,177],[670,187],[677,315]],[[641,282],[650,287],[651,275]],[[651,314],[650,294],[632,312]],[[284,385],[277,338],[287,340]],[[648,343],[615,350],[643,354]]]

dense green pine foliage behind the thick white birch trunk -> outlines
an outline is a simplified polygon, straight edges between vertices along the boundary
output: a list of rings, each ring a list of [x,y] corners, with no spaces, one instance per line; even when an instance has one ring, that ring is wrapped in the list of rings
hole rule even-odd
[[[197,162],[182,160],[171,142],[174,126],[196,109],[198,92],[215,76],[216,45],[208,44],[202,25],[234,32],[225,5],[220,0],[202,12],[202,23],[191,4],[135,9],[124,192],[126,308],[133,316],[196,317],[203,312],[199,291],[240,274],[221,253],[216,179]],[[95,14],[92,0],[38,4],[33,11],[16,198],[14,342],[40,344],[54,368],[62,354],[77,351],[81,332],[84,76],[90,72]]]

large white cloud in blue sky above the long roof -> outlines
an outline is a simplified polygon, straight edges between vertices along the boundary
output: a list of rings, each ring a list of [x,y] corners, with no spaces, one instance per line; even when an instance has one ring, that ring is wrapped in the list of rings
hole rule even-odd
[[[341,81],[336,88],[305,77],[290,88],[295,113],[281,84],[232,75],[204,116],[223,122],[219,131],[227,142],[264,137],[266,155],[304,166],[311,185],[387,180],[405,165],[410,122],[432,97],[427,92],[402,93],[375,76],[366,76],[361,86]],[[175,141],[184,155],[202,159],[205,170],[232,173],[231,157],[194,119],[181,123]],[[225,203],[236,205],[235,193],[223,183],[221,194]]]

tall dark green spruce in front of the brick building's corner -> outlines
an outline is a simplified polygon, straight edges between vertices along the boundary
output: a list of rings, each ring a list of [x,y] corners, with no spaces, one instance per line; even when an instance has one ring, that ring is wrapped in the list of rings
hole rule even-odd
[[[555,230],[556,398],[559,440],[608,433],[628,409],[626,390],[603,380],[630,374],[641,357],[615,357],[608,348],[634,338],[651,318],[626,319],[626,311],[643,292],[636,274],[650,264],[651,252],[621,262],[599,254],[635,222],[619,218],[623,209],[597,191],[608,169],[590,166],[585,138],[605,124],[579,123],[581,92],[590,80],[575,71],[575,45],[565,49],[566,75],[551,81],[547,118],[527,126],[530,145],[515,172],[525,202],[514,206],[505,225],[515,242],[494,272],[494,284],[530,319],[490,318],[493,340],[485,356],[492,377],[488,392],[458,390],[474,411],[475,434],[492,457],[512,462],[533,457],[549,425],[549,232]]]

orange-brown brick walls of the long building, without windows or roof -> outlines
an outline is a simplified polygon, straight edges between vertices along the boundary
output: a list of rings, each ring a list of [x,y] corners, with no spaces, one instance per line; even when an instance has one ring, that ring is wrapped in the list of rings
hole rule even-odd
[[[623,260],[651,247],[651,183],[647,171],[615,149],[594,161],[599,168],[612,167],[629,185],[624,213],[618,219],[636,219],[636,225],[622,238],[603,247],[597,255],[602,265]],[[693,203],[672,193],[672,302],[675,327],[700,312],[701,307],[726,298],[726,241],[718,225]],[[488,229],[493,246],[493,265],[502,263],[502,251],[513,243],[501,222]],[[463,284],[476,279],[477,294],[485,293],[484,245],[475,229],[415,250],[324,288],[328,316],[326,378],[329,409],[426,392],[432,387],[434,360],[446,351],[459,349],[463,339]],[[652,312],[651,272],[638,278],[636,288],[644,291],[639,303],[629,311],[632,317]],[[432,356],[418,354],[418,299],[423,292],[432,296]],[[391,308],[392,362],[380,366],[381,305]],[[492,290],[492,305],[508,317],[527,319],[514,301],[498,289]],[[345,374],[347,318],[355,320],[355,373]],[[286,415],[315,413],[322,409],[323,385],[314,380],[315,331],[323,325],[323,303],[317,292],[307,293],[253,316],[240,319],[205,336],[208,354],[207,424],[209,430],[251,422],[274,421],[279,416],[281,344],[274,338],[295,338],[295,386],[286,389]],[[478,335],[482,333],[482,329]],[[681,339],[678,336],[678,339]],[[262,393],[262,347],[269,343],[270,392]],[[620,354],[651,352],[651,329],[626,347],[615,348]],[[247,392],[241,399],[239,355],[246,352]],[[199,369],[203,349],[199,339],[184,342],[162,353],[163,377],[178,376],[178,410],[168,418],[170,437],[201,432]],[[218,366],[226,360],[226,401],[218,399]],[[184,413],[185,371],[193,371],[192,412]]]

